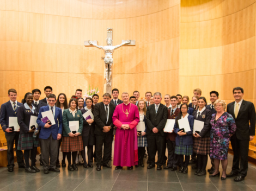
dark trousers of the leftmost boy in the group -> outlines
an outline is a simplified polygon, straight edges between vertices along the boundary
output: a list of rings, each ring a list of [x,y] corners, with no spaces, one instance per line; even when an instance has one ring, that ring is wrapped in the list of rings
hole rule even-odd
[[[17,163],[19,166],[25,165],[23,160],[23,152],[21,150],[17,150],[18,147],[18,141],[19,141],[20,132],[15,132],[13,135],[5,135],[6,141],[7,141],[7,161],[8,165],[7,167],[14,167],[14,151],[13,146],[15,144],[15,151],[17,156]]]

